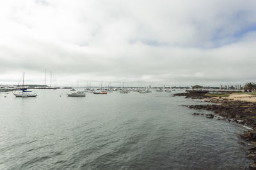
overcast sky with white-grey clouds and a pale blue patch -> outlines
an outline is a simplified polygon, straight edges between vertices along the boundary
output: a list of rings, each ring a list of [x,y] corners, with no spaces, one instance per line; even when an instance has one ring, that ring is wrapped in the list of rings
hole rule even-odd
[[[0,2],[0,84],[256,82],[256,1]]]

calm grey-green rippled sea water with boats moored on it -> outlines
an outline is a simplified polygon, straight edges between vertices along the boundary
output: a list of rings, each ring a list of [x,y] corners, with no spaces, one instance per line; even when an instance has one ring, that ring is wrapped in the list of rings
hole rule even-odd
[[[241,125],[193,116],[173,93],[0,93],[0,169],[244,169]],[[6,96],[6,97],[4,97]],[[202,111],[207,113],[207,111]]]

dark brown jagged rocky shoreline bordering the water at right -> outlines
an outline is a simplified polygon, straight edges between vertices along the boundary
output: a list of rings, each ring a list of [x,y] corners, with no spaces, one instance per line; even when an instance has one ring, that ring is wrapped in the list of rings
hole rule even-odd
[[[241,143],[246,146],[248,159],[252,160],[249,169],[256,169],[256,103],[246,101],[234,101],[224,97],[206,96],[205,93],[180,93],[173,96],[184,96],[191,99],[204,99],[211,104],[189,105],[188,108],[195,110],[207,110],[216,114],[193,113],[192,115],[204,115],[207,118],[217,117],[218,120],[225,119],[228,122],[237,122],[252,129],[238,137],[246,141]]]

